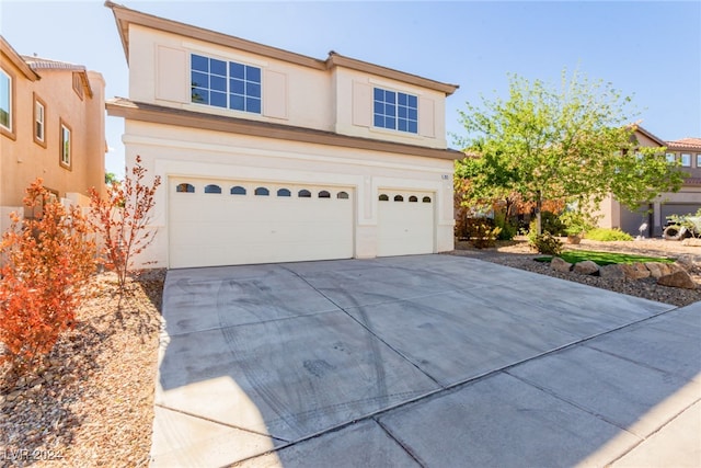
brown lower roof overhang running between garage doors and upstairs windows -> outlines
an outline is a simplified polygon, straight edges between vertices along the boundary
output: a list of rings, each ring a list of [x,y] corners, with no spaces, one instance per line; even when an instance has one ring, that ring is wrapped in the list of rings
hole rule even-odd
[[[418,156],[445,160],[464,158],[464,153],[453,149],[426,148],[393,141],[340,135],[291,125],[250,121],[202,112],[184,111],[146,104],[126,99],[115,99],[106,103],[107,114],[129,121],[149,122],[203,130],[223,132],[263,138],[299,141],[314,145],[327,145],[343,148],[365,149],[404,156]]]

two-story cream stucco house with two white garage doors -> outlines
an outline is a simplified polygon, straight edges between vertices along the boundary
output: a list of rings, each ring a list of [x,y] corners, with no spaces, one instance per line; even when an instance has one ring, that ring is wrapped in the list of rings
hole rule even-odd
[[[141,261],[189,267],[453,248],[445,100],[458,88],[107,2],[129,65],[127,163],[160,175]]]

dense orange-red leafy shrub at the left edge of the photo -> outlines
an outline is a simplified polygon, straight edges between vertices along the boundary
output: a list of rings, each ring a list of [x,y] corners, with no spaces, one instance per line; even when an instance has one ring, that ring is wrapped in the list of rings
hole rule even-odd
[[[83,286],[94,272],[95,244],[80,208],[66,209],[37,179],[24,204],[36,217],[12,224],[2,235],[0,256],[0,341],[3,361],[23,372],[48,354],[72,328]]]

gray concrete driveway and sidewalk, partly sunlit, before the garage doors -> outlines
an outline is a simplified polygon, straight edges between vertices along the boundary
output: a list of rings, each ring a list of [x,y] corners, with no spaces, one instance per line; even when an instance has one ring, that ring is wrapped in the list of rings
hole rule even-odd
[[[701,465],[701,304],[417,255],[168,273],[152,465]]]

